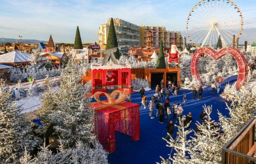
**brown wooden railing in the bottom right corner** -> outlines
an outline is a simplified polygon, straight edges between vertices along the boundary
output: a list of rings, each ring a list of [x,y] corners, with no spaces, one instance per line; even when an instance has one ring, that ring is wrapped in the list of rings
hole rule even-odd
[[[222,164],[250,164],[256,162],[253,157],[256,150],[254,144],[256,118],[247,124],[222,148]]]

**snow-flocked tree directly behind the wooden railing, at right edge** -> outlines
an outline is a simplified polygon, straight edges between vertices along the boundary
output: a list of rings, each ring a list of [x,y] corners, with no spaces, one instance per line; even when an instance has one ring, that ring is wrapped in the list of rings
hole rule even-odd
[[[238,95],[232,99],[231,105],[227,105],[230,117],[223,116],[218,111],[219,121],[222,124],[222,130],[224,132],[223,139],[225,142],[229,141],[234,135],[241,130],[241,128],[256,112],[256,90],[249,91],[248,86],[243,87],[240,91],[237,91]]]

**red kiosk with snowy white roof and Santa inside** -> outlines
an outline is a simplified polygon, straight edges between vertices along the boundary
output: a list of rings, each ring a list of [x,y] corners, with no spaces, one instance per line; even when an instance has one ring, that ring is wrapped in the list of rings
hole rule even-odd
[[[92,93],[129,89],[131,93],[131,67],[127,65],[92,65]]]

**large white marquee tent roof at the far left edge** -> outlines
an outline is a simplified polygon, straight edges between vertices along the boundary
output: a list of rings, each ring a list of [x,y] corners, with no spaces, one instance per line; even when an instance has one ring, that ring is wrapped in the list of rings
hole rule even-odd
[[[0,55],[0,63],[19,63],[19,62],[30,62],[32,56],[26,52],[12,51],[3,55]],[[42,58],[42,60],[48,60]]]

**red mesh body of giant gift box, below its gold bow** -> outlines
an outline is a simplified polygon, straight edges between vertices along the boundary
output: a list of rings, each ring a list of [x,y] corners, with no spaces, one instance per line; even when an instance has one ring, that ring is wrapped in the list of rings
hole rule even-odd
[[[106,106],[92,103],[95,108],[95,134],[103,148],[108,152],[116,151],[115,131],[132,136],[132,140],[140,138],[139,105],[132,102],[123,102],[118,105]]]

